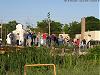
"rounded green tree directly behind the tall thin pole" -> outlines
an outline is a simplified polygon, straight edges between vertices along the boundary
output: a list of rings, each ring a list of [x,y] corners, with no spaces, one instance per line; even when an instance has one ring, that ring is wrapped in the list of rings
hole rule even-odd
[[[42,20],[41,22],[37,22],[37,28],[40,32],[49,32],[48,22],[46,20]],[[51,21],[50,22],[50,32],[51,34],[59,34],[62,32],[62,24],[60,22]]]

